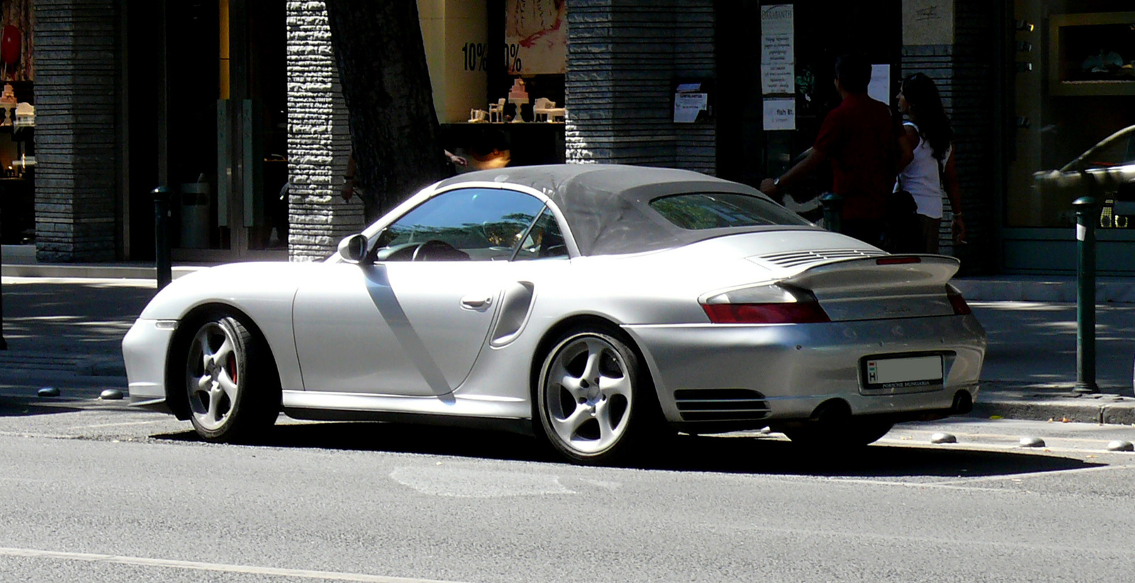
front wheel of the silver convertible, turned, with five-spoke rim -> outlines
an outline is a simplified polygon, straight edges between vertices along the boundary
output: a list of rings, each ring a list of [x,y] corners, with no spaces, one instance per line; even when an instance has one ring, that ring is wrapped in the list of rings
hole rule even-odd
[[[196,328],[185,360],[190,421],[208,441],[262,436],[279,414],[268,350],[238,319],[218,314]]]

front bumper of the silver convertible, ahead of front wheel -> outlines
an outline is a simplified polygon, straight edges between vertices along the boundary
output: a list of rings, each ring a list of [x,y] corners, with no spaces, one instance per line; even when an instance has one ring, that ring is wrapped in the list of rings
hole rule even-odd
[[[165,404],[166,357],[175,331],[176,321],[140,318],[123,338],[132,405],[168,412]]]

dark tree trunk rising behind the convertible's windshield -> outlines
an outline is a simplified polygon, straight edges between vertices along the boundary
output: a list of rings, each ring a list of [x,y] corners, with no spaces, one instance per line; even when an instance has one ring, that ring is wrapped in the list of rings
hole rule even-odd
[[[367,221],[447,176],[415,0],[326,0]],[[369,200],[368,200],[369,198]]]

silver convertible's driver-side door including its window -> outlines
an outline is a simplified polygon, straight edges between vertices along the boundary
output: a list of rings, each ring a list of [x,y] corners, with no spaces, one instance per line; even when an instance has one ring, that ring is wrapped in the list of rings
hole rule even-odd
[[[392,222],[372,264],[328,264],[296,293],[306,390],[429,396],[469,374],[499,303],[508,260],[540,214],[535,196],[449,191]]]

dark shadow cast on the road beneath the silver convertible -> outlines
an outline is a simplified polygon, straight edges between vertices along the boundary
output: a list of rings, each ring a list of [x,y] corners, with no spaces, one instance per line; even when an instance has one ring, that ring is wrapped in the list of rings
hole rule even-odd
[[[200,441],[193,431],[153,436]],[[502,431],[397,423],[304,423],[277,425],[253,447],[322,448],[566,463],[527,436]],[[997,476],[1081,470],[1087,463],[1037,451],[989,451],[956,447],[874,445],[851,453],[808,451],[776,434],[686,436],[620,467],[674,472],[789,474],[839,478]]]

